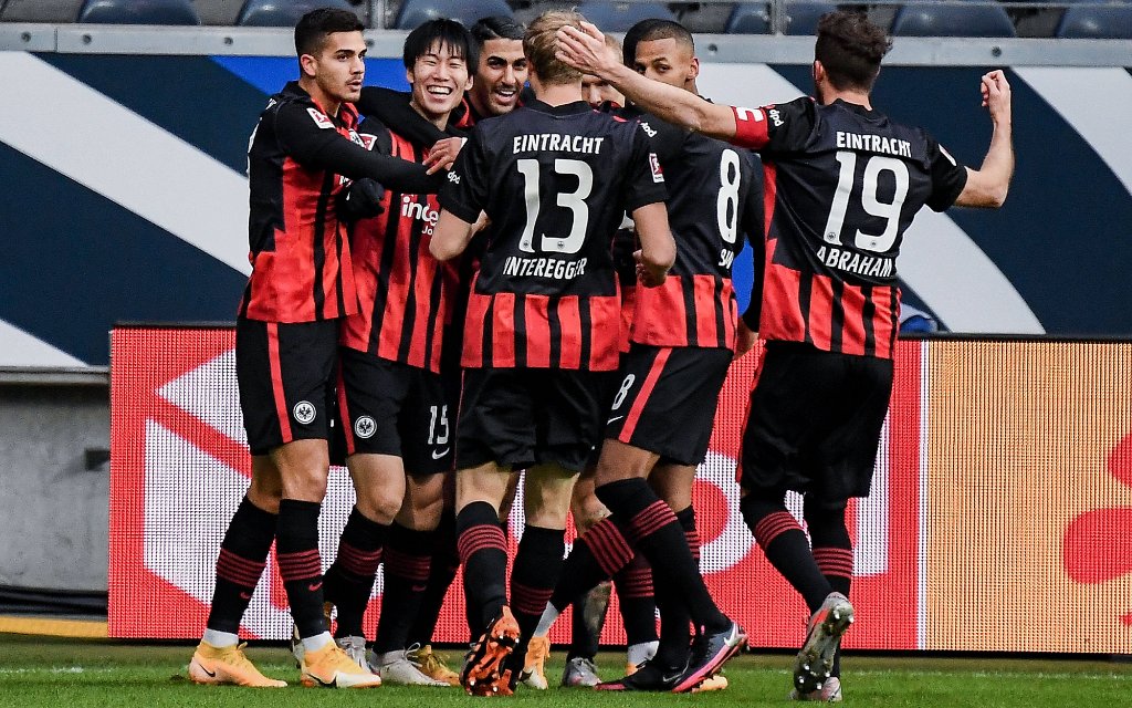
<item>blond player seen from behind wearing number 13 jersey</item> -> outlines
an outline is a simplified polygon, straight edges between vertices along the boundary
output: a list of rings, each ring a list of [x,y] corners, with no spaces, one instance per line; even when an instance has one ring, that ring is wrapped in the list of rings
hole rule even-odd
[[[644,282],[663,282],[675,246],[663,176],[638,126],[593,111],[582,76],[554,57],[576,12],[547,12],[523,49],[537,100],[475,125],[441,191],[431,250],[468,245],[490,225],[464,329],[456,429],[456,528],[464,586],[483,636],[464,667],[469,692],[508,692],[525,640],[557,581],[571,489],[601,435],[602,372],[620,330],[612,238],[632,213]],[[499,503],[525,468],[526,526],[505,587]],[[516,650],[514,659],[508,656]]]

